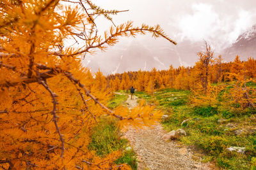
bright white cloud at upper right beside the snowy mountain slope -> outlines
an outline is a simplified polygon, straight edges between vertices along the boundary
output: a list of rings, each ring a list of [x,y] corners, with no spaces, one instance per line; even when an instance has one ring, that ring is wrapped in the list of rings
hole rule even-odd
[[[220,4],[221,1],[219,2]],[[209,41],[216,50],[230,45],[255,23],[255,12],[228,3],[196,3],[176,20],[179,38],[191,41]]]

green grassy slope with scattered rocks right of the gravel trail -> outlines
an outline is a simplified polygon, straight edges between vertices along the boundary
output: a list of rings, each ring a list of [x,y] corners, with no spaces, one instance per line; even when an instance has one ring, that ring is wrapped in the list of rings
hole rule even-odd
[[[180,138],[180,142],[207,153],[204,161],[216,161],[217,166],[225,169],[253,169],[252,165],[256,163],[256,131],[253,130],[256,117],[253,111],[237,114],[219,108],[193,108],[189,104],[189,94],[186,90],[164,89],[155,92],[154,96],[145,92],[137,92],[136,96],[156,104],[170,115],[163,120],[164,127],[170,131],[184,129],[188,135]],[[186,119],[190,120],[181,125]],[[244,133],[236,135],[237,129]],[[228,152],[226,148],[229,146],[245,147],[246,152]]]

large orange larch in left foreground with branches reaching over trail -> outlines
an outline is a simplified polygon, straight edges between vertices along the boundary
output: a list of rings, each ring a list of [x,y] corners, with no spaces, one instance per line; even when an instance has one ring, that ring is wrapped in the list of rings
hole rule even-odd
[[[97,86],[81,60],[115,45],[120,36],[151,32],[175,41],[159,25],[134,27],[132,22],[100,36],[95,18],[113,22],[111,15],[120,11],[104,10],[89,0],[2,0],[0,11],[0,166],[125,169],[113,163],[119,152],[101,159],[88,150],[90,129],[102,115],[118,119],[120,127],[140,127],[153,124],[161,113],[143,104],[132,111],[109,110],[104,83]],[[68,39],[84,45],[66,46]]]

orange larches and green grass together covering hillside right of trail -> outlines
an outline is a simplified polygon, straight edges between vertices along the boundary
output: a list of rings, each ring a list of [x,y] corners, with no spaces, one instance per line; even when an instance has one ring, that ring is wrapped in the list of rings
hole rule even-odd
[[[187,132],[179,142],[225,169],[256,168],[256,60],[223,62],[211,46],[193,67],[138,71],[107,77],[112,90],[138,89],[136,96],[163,110],[169,131]],[[233,151],[232,151],[233,150]]]

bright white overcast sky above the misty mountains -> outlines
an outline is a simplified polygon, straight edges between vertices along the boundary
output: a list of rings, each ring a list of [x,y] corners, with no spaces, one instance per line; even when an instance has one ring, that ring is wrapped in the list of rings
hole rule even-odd
[[[255,0],[97,0],[108,10],[129,10],[113,17],[115,24],[127,20],[134,25],[160,24],[178,43],[182,39],[209,41],[216,49],[236,41],[237,36],[256,24]],[[100,31],[110,22],[96,20]]]

